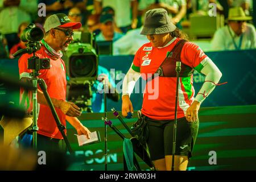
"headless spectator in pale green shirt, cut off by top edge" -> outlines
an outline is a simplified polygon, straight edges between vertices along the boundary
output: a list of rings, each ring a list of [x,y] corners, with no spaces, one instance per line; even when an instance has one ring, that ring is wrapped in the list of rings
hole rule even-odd
[[[96,14],[101,14],[102,8],[106,6],[112,7],[115,11],[115,22],[123,33],[131,28],[137,28],[137,0],[94,0]]]

